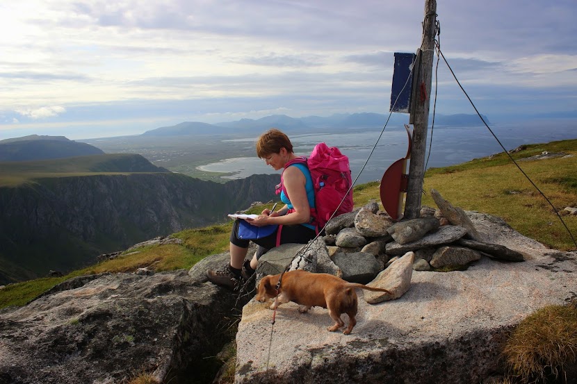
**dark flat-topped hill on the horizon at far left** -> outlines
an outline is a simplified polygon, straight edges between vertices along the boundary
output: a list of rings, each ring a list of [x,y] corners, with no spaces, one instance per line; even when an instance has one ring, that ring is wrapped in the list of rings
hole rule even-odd
[[[104,151],[64,136],[29,135],[0,141],[0,161],[30,161],[101,155]]]

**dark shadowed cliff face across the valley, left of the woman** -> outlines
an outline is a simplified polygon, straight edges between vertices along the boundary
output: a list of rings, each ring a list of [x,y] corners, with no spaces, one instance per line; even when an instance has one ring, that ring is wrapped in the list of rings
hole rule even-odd
[[[101,253],[222,222],[253,201],[273,199],[278,181],[278,175],[254,175],[223,185],[156,173],[46,178],[0,188],[0,284],[67,271]]]

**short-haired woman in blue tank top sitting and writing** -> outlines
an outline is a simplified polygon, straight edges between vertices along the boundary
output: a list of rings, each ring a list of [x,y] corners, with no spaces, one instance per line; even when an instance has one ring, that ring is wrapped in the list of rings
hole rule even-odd
[[[314,208],[314,189],[307,165],[295,163],[287,166],[287,163],[298,156],[293,153],[293,144],[289,137],[274,128],[259,137],[257,156],[275,170],[284,169],[282,178],[286,194],[281,192],[280,199],[285,206],[275,212],[265,209],[257,218],[247,219],[247,222],[254,226],[282,225],[279,244],[307,243],[316,236],[315,226],[309,224],[311,208]],[[222,270],[209,269],[206,272],[209,281],[231,290],[235,290],[239,282],[254,274],[260,257],[257,253],[252,260],[245,261],[250,240],[238,238],[240,220],[236,219],[230,234],[230,264]],[[278,231],[277,228],[272,234],[252,241],[266,250],[271,249],[277,245]]]

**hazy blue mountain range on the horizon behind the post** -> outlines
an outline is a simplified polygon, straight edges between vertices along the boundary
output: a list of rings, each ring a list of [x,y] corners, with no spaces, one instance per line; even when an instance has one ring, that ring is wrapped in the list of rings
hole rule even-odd
[[[185,135],[225,135],[225,134],[255,134],[262,133],[270,128],[279,128],[289,133],[308,133],[323,128],[382,128],[389,115],[380,113],[362,112],[353,114],[335,114],[329,117],[308,116],[289,117],[286,115],[271,115],[261,119],[241,119],[235,122],[208,124],[202,122],[182,122],[174,126],[146,131],[142,136],[185,136]],[[483,115],[485,122],[489,119]],[[408,116],[393,113],[389,124],[391,128],[402,128],[407,124]],[[432,118],[429,119],[429,124]],[[437,126],[476,126],[482,125],[478,115],[436,115],[434,124]]]

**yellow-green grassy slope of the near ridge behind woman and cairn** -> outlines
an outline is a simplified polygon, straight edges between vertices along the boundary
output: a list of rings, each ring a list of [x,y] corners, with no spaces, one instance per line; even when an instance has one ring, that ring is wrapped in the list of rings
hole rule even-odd
[[[542,151],[571,153],[571,158],[519,162],[521,169],[546,194],[555,208],[577,206],[577,140],[530,145],[514,158],[526,158]],[[575,245],[556,217],[551,206],[524,178],[509,158],[501,153],[490,158],[471,160],[461,165],[430,169],[423,189],[434,188],[453,205],[465,210],[478,210],[503,217],[523,235],[532,237],[554,249],[574,250]],[[362,206],[371,199],[379,200],[378,183],[355,187],[355,204]],[[434,207],[430,195],[423,205]],[[270,207],[268,207],[270,208]],[[262,207],[252,208],[259,212]],[[577,216],[562,216],[577,235]],[[192,267],[198,260],[228,247],[231,222],[200,229],[188,229],[174,234],[182,245],[146,247],[138,253],[127,253],[115,260],[72,272],[63,278],[40,278],[8,285],[0,290],[0,308],[22,306],[33,297],[73,276],[99,272],[132,272],[138,267],[154,264],[157,271]]]

